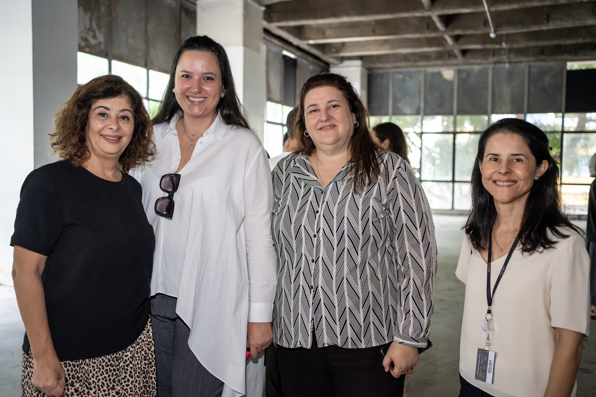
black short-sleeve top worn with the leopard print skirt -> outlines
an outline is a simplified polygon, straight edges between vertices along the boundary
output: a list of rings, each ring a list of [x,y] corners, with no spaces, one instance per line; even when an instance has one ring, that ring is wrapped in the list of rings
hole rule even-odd
[[[21,187],[10,244],[48,257],[42,282],[60,361],[122,351],[147,324],[155,237],[141,194],[128,174],[110,182],[70,161],[32,171]]]

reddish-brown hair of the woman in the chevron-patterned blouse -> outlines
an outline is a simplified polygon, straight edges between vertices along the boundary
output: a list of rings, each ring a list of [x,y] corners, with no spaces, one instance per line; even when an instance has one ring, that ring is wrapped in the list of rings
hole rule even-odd
[[[354,127],[354,133],[350,138],[349,149],[351,155],[351,166],[349,173],[353,179],[352,190],[354,193],[362,192],[366,186],[377,182],[380,174],[378,157],[380,150],[373,142],[370,136],[370,126],[368,125],[368,110],[362,103],[362,99],[356,93],[354,87],[340,74],[321,73],[315,74],[300,90],[300,103],[294,116],[294,132],[300,142],[298,152],[306,152],[307,155],[315,151],[315,143],[311,137],[305,136],[305,98],[312,89],[318,87],[334,87],[340,90],[349,104],[350,111],[355,115],[357,126]]]

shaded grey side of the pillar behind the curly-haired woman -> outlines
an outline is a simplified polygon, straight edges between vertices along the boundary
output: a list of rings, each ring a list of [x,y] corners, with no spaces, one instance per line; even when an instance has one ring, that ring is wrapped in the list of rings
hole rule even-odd
[[[28,3],[33,21],[33,158],[37,168],[58,160],[51,154],[48,133],[54,131],[54,115],[77,87],[79,15],[76,0]]]

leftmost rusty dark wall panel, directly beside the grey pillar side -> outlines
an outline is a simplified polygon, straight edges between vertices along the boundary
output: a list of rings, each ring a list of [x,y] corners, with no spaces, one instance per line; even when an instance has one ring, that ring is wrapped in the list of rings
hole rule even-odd
[[[79,0],[79,49],[91,54],[108,55],[108,2]]]

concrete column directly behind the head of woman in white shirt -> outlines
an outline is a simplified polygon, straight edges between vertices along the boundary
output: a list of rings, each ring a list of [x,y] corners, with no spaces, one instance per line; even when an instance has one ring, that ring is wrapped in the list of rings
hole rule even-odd
[[[262,141],[267,101],[262,8],[250,0],[198,0],[197,35],[224,46],[238,97]]]

